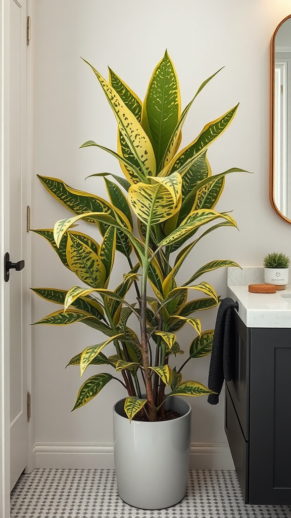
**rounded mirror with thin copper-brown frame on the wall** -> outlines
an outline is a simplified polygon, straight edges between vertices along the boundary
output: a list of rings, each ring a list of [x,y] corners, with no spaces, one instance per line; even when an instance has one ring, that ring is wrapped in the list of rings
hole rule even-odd
[[[291,15],[271,41],[271,203],[291,223]]]

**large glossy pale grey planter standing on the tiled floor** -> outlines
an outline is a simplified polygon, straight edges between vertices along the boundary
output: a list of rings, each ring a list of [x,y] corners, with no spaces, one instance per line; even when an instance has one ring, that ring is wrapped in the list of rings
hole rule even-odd
[[[166,408],[178,419],[129,423],[121,399],[113,407],[114,464],[122,500],[141,509],[164,509],[185,496],[191,450],[191,407],[172,396]]]

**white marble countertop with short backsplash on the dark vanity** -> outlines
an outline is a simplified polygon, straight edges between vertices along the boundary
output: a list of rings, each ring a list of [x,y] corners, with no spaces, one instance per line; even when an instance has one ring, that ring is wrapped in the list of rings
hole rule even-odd
[[[249,292],[249,284],[261,283],[263,267],[228,268],[227,295],[238,301],[241,320],[246,327],[291,328],[291,284],[276,293]]]

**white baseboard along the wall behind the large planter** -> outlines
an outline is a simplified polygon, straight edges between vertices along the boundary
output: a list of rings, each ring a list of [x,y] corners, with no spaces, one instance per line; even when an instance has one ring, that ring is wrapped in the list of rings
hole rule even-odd
[[[112,443],[35,442],[36,468],[114,469]],[[192,443],[191,469],[234,469],[228,444]]]

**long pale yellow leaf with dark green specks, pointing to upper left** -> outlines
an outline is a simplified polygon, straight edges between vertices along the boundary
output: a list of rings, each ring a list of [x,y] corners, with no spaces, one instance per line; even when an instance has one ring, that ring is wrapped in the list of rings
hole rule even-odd
[[[99,74],[96,68],[88,63],[88,61],[85,61],[85,63],[91,66],[95,76],[103,88],[105,96],[117,120],[119,130],[126,140],[130,151],[138,161],[140,170],[143,172],[144,176],[154,176],[156,171],[155,156],[149,137],[142,129],[134,114],[124,104],[118,93]]]

